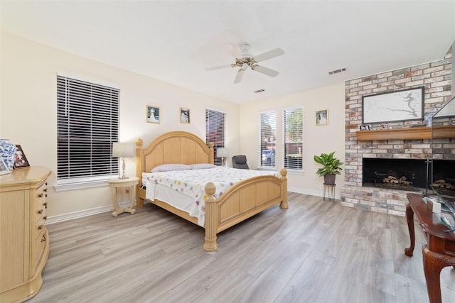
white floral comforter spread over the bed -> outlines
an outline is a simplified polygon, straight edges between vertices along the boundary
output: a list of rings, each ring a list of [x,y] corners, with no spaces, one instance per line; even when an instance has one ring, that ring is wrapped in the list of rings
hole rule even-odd
[[[262,175],[274,175],[279,177],[279,172],[266,170],[238,170],[230,167],[215,167],[202,170],[178,170],[172,172],[149,172],[143,173],[142,178],[146,181],[146,198],[160,199],[156,193],[157,185],[168,187],[191,198],[188,206],[176,206],[170,201],[164,201],[176,206],[178,209],[187,211],[191,216],[198,218],[198,224],[204,226],[205,216],[205,184],[213,182],[216,187],[215,198],[220,198],[232,185],[250,177]],[[144,183],[144,182],[143,182]],[[186,208],[186,209],[184,209]]]

